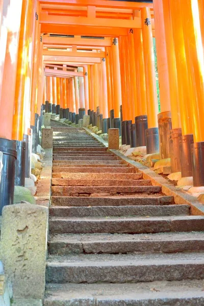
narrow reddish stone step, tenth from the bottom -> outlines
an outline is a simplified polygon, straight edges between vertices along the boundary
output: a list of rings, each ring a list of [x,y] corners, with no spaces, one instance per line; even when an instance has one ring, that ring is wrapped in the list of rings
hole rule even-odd
[[[66,167],[65,167],[66,166]],[[81,165],[65,165],[65,164],[61,164],[61,167],[57,167],[57,166],[53,166],[53,172],[95,172],[95,173],[106,173],[106,172],[110,172],[110,173],[134,173],[135,172],[135,167],[125,167],[125,165],[119,165],[119,167],[117,167],[116,165],[114,165],[114,167],[107,167],[110,165],[106,165],[105,167],[101,167],[101,165],[95,165],[95,167],[93,165],[84,165],[84,167],[82,167]]]

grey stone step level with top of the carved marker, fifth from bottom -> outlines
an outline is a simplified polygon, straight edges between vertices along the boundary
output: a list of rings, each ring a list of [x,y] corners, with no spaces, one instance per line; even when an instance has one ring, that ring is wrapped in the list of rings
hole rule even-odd
[[[51,217],[110,217],[110,216],[176,216],[189,215],[188,205],[166,206],[95,206],[49,208]],[[203,228],[204,230],[204,228]]]

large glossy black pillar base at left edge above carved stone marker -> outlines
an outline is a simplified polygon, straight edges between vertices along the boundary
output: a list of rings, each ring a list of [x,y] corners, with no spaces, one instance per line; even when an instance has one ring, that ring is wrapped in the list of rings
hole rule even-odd
[[[0,138],[0,161],[1,161],[1,182],[0,182],[0,215],[6,205],[13,204],[15,164],[17,158],[15,141]]]

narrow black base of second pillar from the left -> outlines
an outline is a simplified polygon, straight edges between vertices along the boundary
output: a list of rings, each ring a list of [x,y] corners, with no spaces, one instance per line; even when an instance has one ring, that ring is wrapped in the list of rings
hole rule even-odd
[[[15,186],[25,186],[25,149],[24,141],[15,140],[17,159],[15,169]]]

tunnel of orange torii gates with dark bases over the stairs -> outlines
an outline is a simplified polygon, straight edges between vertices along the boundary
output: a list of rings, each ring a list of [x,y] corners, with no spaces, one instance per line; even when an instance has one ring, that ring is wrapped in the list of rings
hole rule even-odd
[[[0,0],[1,209],[30,175],[44,112],[89,114],[204,186],[203,14],[204,0]]]

